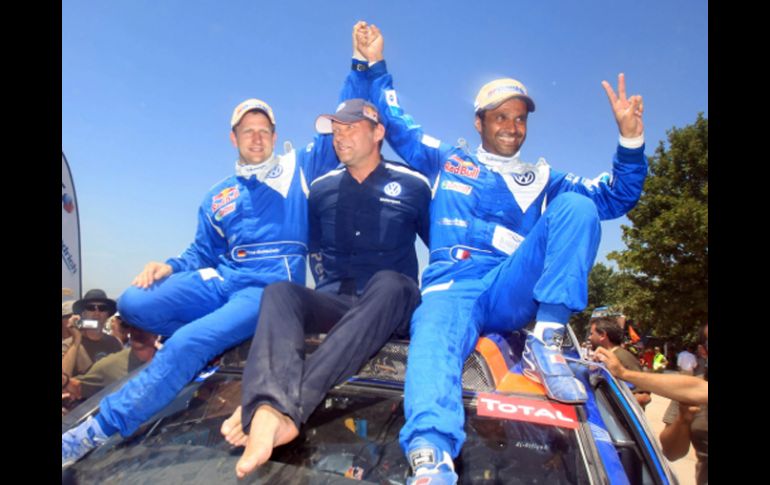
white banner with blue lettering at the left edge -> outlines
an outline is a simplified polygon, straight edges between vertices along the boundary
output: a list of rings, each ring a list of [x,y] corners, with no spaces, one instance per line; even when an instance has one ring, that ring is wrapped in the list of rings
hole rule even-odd
[[[80,217],[75,185],[64,152],[61,154],[61,286],[62,299],[81,298]]]

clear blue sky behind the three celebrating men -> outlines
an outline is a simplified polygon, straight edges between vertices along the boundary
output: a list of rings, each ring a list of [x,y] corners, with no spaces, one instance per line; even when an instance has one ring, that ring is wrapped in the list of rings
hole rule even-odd
[[[84,290],[117,297],[151,260],[182,252],[205,192],[230,175],[232,109],[275,110],[277,149],[332,112],[350,32],[380,27],[401,105],[434,137],[479,143],[473,99],[521,80],[537,111],[522,158],[595,177],[617,127],[601,81],[645,100],[646,152],[708,116],[708,3],[596,1],[148,1],[62,4],[62,150],[81,217]],[[395,158],[390,149],[386,156]],[[624,247],[602,223],[597,261]],[[424,261],[424,254],[421,254]]]

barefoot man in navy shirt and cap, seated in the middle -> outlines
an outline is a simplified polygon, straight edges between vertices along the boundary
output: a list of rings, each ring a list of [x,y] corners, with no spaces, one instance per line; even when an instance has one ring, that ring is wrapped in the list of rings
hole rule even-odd
[[[366,64],[353,62],[354,69]],[[343,167],[310,184],[310,267],[316,289],[281,282],[262,298],[243,374],[242,408],[222,425],[245,445],[239,478],[299,434],[333,386],[352,376],[395,334],[408,335],[420,302],[415,236],[428,243],[430,186],[420,173],[382,159],[385,130],[363,99],[321,115]],[[304,357],[305,334],[326,333]]]

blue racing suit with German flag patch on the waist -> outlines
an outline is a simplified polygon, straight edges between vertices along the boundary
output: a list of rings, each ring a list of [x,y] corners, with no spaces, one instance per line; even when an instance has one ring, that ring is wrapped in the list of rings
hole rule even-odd
[[[351,71],[341,100],[364,97]],[[263,288],[305,284],[308,183],[339,165],[331,135],[265,161],[264,182],[231,176],[206,194],[195,241],[167,261],[174,272],[149,289],[130,287],[118,300],[123,318],[171,336],[150,365],[100,403],[107,434],[131,435],[163,409],[209,362],[254,334]],[[106,429],[105,429],[106,428]]]

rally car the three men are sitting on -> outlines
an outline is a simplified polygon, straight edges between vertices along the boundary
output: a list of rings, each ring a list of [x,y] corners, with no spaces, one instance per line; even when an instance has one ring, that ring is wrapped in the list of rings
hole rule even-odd
[[[587,403],[550,401],[521,375],[524,334],[479,340],[463,372],[467,441],[455,460],[460,483],[678,483],[625,384],[606,369],[564,353],[586,388]],[[308,339],[308,351],[318,340]],[[408,342],[391,341],[357,376],[332,389],[300,436],[278,447],[243,480],[219,428],[240,404],[248,344],[127,439],[119,435],[62,471],[63,483],[378,483],[403,484],[409,466],[398,444],[404,424]],[[93,414],[116,383],[62,419],[62,432]]]

